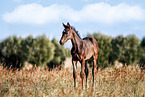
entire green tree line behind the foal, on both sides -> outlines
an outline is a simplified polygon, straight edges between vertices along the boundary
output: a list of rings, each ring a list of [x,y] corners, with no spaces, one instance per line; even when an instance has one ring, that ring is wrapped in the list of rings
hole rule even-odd
[[[94,37],[99,44],[99,67],[119,61],[126,65],[140,64],[145,68],[145,37],[140,40],[135,35],[110,37],[100,33],[87,36]],[[70,57],[70,49],[59,45],[55,38],[49,40],[45,35],[36,38],[12,36],[0,42],[0,63],[8,68],[21,68],[24,62],[53,68],[61,66],[66,57]]]

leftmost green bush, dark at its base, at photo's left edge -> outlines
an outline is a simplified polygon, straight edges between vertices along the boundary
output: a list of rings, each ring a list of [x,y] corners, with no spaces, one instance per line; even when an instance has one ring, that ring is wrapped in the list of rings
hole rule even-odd
[[[16,36],[5,39],[0,43],[1,62],[11,68],[20,68],[24,62],[23,51],[21,50],[22,38]]]

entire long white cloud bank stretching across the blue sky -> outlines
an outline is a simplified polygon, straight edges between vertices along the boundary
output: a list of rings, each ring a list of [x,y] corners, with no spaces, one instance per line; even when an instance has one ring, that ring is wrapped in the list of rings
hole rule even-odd
[[[3,15],[10,23],[45,24],[68,20],[73,22],[120,23],[145,20],[145,10],[139,6],[119,4],[111,6],[107,3],[96,3],[74,10],[66,5],[54,4],[44,7],[40,4],[28,4],[15,8],[14,11]]]

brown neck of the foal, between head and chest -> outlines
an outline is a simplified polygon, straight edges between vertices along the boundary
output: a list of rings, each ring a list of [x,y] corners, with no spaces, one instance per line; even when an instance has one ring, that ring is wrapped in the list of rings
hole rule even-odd
[[[72,42],[73,48],[77,50],[79,45],[81,45],[82,43],[82,39],[75,32],[73,32],[73,38],[71,39],[71,42]]]

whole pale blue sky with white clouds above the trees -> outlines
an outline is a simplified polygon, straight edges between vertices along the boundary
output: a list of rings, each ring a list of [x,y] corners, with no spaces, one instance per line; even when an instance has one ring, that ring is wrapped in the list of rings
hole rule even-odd
[[[45,34],[60,40],[69,22],[81,37],[145,36],[145,0],[0,0],[0,40]]]

